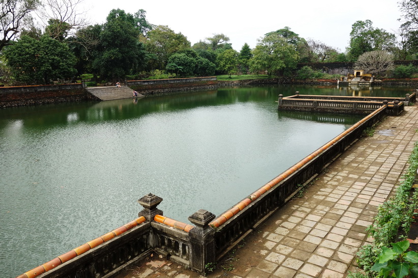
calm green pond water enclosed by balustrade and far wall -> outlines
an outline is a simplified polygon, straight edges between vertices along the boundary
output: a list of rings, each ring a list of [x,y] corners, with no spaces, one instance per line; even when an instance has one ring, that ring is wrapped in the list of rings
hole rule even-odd
[[[410,88],[219,88],[0,110],[0,266],[17,276],[135,218],[219,215],[361,116],[277,111],[277,96],[405,96]]]

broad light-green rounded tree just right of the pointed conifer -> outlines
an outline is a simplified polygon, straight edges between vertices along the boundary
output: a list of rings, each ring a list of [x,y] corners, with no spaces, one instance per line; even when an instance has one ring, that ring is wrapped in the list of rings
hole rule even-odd
[[[298,59],[294,45],[277,34],[270,34],[258,40],[250,59],[250,69],[252,72],[266,71],[269,77],[283,75],[285,70],[296,67]]]

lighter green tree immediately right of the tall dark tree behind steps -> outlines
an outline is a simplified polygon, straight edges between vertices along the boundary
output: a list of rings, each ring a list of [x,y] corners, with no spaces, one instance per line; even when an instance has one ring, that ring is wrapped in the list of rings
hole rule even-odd
[[[171,55],[190,48],[187,37],[181,33],[175,33],[164,25],[158,25],[148,32],[148,40],[145,45],[149,53],[156,55],[157,65],[160,69],[165,69]]]

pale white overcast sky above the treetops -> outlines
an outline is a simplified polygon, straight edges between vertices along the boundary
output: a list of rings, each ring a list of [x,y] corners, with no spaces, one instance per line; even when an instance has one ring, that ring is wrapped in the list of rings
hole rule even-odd
[[[244,43],[254,48],[264,34],[289,26],[304,39],[312,38],[344,52],[355,21],[370,19],[375,28],[396,34],[401,17],[397,0],[85,0],[84,4],[91,23],[104,23],[112,9],[131,14],[143,9],[148,22],[168,25],[186,36],[191,45],[222,33],[237,51]]]

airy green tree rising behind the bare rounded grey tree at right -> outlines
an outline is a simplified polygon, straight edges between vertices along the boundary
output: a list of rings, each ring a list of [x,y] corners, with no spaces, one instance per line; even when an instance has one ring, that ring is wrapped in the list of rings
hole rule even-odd
[[[374,50],[391,52],[395,48],[395,41],[394,34],[374,28],[371,20],[358,20],[352,25],[348,58],[355,61],[361,54]]]

